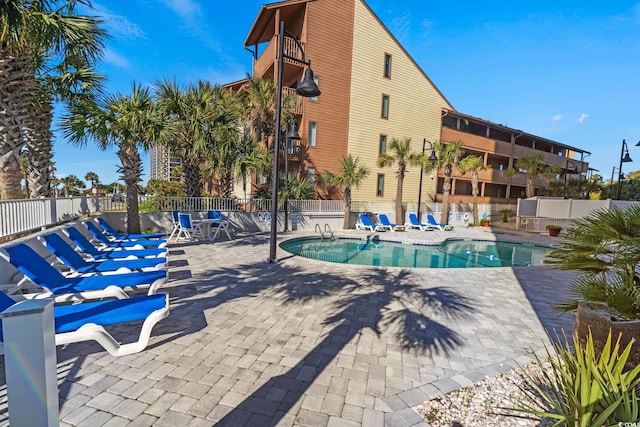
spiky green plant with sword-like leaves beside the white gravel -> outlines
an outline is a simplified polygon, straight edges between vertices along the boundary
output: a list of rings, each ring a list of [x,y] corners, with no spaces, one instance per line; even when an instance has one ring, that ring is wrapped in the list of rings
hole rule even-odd
[[[591,334],[584,347],[575,335],[573,346],[565,338],[564,345],[554,345],[555,357],[547,349],[551,365],[548,370],[539,375],[523,374],[525,384],[520,387],[530,402],[517,401],[513,402],[514,407],[501,409],[535,415],[563,426],[637,422],[640,366],[624,370],[633,343],[620,353],[620,339],[613,348],[611,342],[609,333],[598,356]],[[537,356],[536,361],[544,366]]]

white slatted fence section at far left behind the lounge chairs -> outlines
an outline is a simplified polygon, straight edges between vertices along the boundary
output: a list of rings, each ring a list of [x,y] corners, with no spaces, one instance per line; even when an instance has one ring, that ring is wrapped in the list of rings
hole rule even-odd
[[[98,207],[90,197],[0,200],[0,238],[88,215]]]

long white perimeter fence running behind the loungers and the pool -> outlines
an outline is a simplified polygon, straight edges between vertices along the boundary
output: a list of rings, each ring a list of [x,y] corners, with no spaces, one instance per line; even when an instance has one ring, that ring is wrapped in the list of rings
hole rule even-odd
[[[280,200],[279,211],[283,210]],[[638,202],[619,200],[572,200],[560,198],[537,197],[519,199],[515,204],[481,204],[480,215],[487,214],[494,221],[501,217],[501,211],[509,209],[516,212],[518,227],[531,232],[544,232],[547,224],[558,224],[563,227],[571,225],[573,219],[589,215],[598,209],[614,207],[625,209]],[[405,211],[417,211],[417,203],[405,204]],[[289,200],[289,212],[295,213],[335,213],[343,212],[342,200]],[[55,199],[27,199],[0,201],[0,238],[12,236],[31,230],[39,230],[66,221],[72,221],[92,212],[123,211],[126,203],[99,199],[97,197],[68,197]],[[224,212],[269,213],[271,200],[262,199],[220,199],[214,197],[140,197],[141,212],[188,210],[193,212],[221,210]],[[380,201],[354,201],[351,211],[387,213],[395,220],[395,203]],[[468,221],[473,208],[467,203],[452,203],[450,206],[450,222],[462,225]],[[422,203],[421,213],[437,215],[442,212],[442,203]],[[469,214],[469,215],[464,215]],[[422,215],[421,215],[422,216]],[[424,217],[423,217],[424,218]],[[398,223],[404,220],[395,221]]]

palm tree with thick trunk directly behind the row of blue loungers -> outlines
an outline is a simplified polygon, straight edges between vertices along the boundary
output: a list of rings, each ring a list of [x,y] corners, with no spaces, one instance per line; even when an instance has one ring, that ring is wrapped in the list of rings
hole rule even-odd
[[[118,172],[126,184],[127,233],[140,233],[138,183],[142,181],[139,149],[146,150],[152,141],[168,138],[171,128],[153,104],[148,89],[135,82],[131,95],[109,96],[100,104],[78,102],[63,120],[64,136],[70,142],[85,145],[94,141],[106,150],[117,148],[122,165]]]

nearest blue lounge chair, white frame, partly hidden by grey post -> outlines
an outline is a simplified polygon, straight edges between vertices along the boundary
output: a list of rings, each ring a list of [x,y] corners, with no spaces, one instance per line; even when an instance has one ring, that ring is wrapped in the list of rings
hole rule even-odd
[[[0,292],[0,311],[16,302]],[[169,315],[169,295],[142,295],[124,300],[86,301],[82,304],[53,307],[56,345],[94,340],[113,356],[125,356],[144,350],[151,330]],[[138,340],[120,344],[105,326],[143,320]],[[4,353],[4,335],[0,322],[0,353]]]

